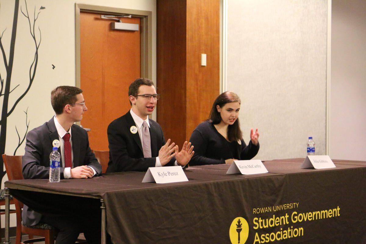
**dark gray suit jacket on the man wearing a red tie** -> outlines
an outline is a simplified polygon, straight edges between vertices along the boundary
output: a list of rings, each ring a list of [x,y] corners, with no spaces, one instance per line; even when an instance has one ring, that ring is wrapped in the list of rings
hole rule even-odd
[[[97,175],[102,173],[102,166],[90,150],[89,139],[85,129],[78,125],[71,126],[72,153],[74,155],[74,167],[87,165],[92,167]],[[25,145],[25,154],[22,157],[22,170],[24,179],[48,179],[49,178],[49,154],[52,152],[53,140],[59,140],[59,134],[53,117],[40,127],[28,132]],[[60,148],[59,153],[61,154]],[[61,155],[62,160],[63,155]],[[64,168],[60,168],[60,177],[64,178]],[[24,205],[22,220],[26,225],[36,225],[42,215]]]

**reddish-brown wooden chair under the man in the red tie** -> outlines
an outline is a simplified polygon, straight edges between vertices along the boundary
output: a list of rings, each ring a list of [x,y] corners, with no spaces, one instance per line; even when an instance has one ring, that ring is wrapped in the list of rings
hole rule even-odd
[[[22,180],[22,156],[10,156],[3,154],[6,173],[9,180]],[[22,224],[23,203],[13,198],[16,210],[16,244],[27,244],[37,241],[44,241],[45,244],[54,244],[57,230],[48,224],[37,224],[25,226]],[[22,233],[29,235],[29,240],[20,242]],[[33,236],[43,236],[44,238],[33,239]]]

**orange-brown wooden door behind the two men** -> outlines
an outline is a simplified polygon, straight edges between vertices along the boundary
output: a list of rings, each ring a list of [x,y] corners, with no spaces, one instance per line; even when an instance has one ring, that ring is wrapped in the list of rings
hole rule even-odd
[[[90,128],[90,148],[108,150],[107,127],[130,109],[128,86],[141,75],[141,19],[122,18],[139,31],[111,30],[101,14],[80,13],[80,88],[88,111],[81,125]]]

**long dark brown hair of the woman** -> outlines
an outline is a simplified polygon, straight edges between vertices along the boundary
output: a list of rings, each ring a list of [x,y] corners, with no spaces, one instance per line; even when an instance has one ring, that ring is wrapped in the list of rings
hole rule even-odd
[[[229,102],[239,102],[240,104],[240,98],[232,91],[225,91],[224,93],[221,93],[213,102],[210,117],[208,120],[213,124],[219,124],[221,122],[221,115],[219,112],[217,112],[216,106],[219,105],[220,108],[222,108],[225,104]],[[234,124],[228,126],[227,133],[228,140],[230,142],[243,139],[242,131],[240,130],[239,118],[235,120]]]

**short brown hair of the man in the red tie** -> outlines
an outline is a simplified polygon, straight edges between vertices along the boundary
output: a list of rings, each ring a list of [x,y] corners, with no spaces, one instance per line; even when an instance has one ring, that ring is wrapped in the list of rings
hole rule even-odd
[[[56,115],[60,115],[67,104],[74,104],[77,100],[76,95],[83,90],[75,86],[57,86],[51,91],[51,105]]]

